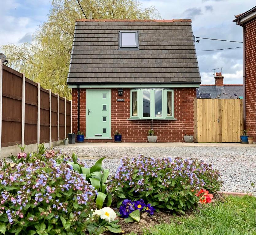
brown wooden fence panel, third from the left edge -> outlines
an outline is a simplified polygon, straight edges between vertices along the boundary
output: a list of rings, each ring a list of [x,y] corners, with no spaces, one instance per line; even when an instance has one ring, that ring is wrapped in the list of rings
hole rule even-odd
[[[40,88],[40,143],[48,143],[50,139],[50,99],[49,91]]]

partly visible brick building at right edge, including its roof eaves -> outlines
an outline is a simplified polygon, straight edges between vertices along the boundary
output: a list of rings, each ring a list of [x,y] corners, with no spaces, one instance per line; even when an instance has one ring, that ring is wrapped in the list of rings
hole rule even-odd
[[[256,6],[235,16],[243,27],[244,126],[256,141]]]

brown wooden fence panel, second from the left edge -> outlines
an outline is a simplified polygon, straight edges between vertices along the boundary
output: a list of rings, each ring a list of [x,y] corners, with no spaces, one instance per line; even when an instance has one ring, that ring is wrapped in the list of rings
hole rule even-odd
[[[37,143],[37,83],[25,79],[25,144]]]

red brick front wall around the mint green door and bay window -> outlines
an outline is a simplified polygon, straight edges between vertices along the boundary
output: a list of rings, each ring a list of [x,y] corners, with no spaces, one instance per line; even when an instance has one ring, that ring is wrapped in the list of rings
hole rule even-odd
[[[86,89],[80,89],[80,130],[85,133]],[[157,142],[184,142],[184,134],[194,135],[194,98],[196,88],[174,89],[174,118],[177,120],[153,120]],[[111,89],[111,137],[113,140],[85,140],[86,142],[113,142],[114,132],[122,133],[123,142],[147,142],[151,120],[127,120],[130,118],[130,89],[123,89],[119,99],[118,89]],[[77,132],[77,89],[72,89],[72,131]]]

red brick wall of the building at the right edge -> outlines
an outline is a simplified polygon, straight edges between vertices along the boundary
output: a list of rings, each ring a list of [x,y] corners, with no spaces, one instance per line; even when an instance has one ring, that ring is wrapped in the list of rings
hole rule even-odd
[[[245,25],[246,129],[256,141],[256,19]]]

